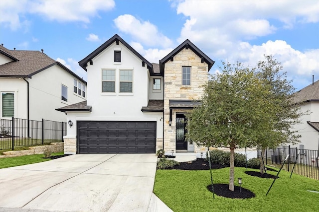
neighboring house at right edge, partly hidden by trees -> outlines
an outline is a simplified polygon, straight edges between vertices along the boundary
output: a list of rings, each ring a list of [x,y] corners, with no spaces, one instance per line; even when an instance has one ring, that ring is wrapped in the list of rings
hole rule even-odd
[[[301,117],[302,124],[296,125],[301,142],[293,147],[319,150],[319,80],[294,93],[295,102],[301,103],[301,111],[308,111]]]

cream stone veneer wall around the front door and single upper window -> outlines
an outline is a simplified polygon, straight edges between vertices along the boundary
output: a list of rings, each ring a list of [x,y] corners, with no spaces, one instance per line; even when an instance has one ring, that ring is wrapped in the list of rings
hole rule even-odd
[[[182,85],[182,67],[191,67],[190,85]],[[173,110],[172,122],[169,127],[169,99],[171,100],[197,100],[200,99],[203,89],[200,87],[208,81],[208,65],[201,63],[201,59],[191,51],[183,49],[174,56],[173,61],[167,61],[164,69],[164,150],[176,151],[176,112],[187,110]],[[168,133],[172,130],[172,133]],[[195,152],[199,147],[195,145]]]

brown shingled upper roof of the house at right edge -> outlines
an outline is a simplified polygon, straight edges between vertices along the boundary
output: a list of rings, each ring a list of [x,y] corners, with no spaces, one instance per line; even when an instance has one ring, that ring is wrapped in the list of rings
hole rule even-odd
[[[293,94],[294,103],[319,101],[319,80]]]

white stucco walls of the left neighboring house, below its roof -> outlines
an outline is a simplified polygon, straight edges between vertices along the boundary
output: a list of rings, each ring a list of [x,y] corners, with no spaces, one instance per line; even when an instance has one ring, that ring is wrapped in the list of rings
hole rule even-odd
[[[77,79],[71,73],[58,65],[40,71],[29,82],[29,119],[52,120],[65,122],[65,114],[56,111],[56,108],[84,101],[85,98],[73,92],[73,80]],[[23,77],[0,77],[0,93],[14,93],[14,118],[27,119],[27,82]],[[62,100],[62,84],[67,87],[67,101]],[[84,83],[83,83],[84,84]],[[2,98],[0,98],[0,118],[2,117]]]

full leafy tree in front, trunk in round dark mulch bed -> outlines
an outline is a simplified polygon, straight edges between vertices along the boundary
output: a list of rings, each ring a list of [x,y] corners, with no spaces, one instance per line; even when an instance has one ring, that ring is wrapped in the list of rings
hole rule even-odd
[[[253,70],[223,64],[204,86],[202,105],[188,113],[188,138],[198,145],[230,148],[229,190],[234,191],[235,148],[256,146],[270,128],[270,89]]]

